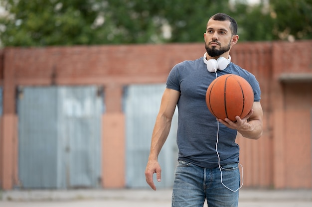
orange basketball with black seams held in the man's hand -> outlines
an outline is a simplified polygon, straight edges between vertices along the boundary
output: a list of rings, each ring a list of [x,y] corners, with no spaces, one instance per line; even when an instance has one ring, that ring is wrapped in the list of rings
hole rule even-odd
[[[254,103],[254,92],[250,84],[234,74],[222,75],[209,85],[206,104],[209,111],[224,120],[236,121],[235,116],[245,117]]]

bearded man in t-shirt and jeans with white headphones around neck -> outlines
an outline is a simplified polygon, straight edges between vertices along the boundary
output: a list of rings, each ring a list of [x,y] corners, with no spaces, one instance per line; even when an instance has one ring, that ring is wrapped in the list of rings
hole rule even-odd
[[[161,179],[157,157],[168,136],[177,105],[179,154],[172,207],[202,207],[205,200],[209,207],[238,205],[240,173],[236,135],[239,132],[246,138],[260,138],[263,112],[261,91],[255,76],[230,62],[230,49],[239,38],[236,33],[237,23],[232,17],[224,13],[211,16],[204,33],[207,51],[204,57],[175,65],[168,76],[153,130],[145,175],[147,183],[156,190],[153,174],[156,173],[158,182]],[[213,59],[217,60],[214,64],[217,63],[211,66]],[[254,91],[251,111],[246,117],[236,116],[235,122],[227,118],[216,120],[205,102],[209,84],[216,76],[224,74],[245,78]]]

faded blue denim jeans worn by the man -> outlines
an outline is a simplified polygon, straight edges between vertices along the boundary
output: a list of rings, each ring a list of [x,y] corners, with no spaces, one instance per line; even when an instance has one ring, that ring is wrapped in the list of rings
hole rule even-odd
[[[240,185],[238,164],[221,165],[222,182],[236,191]],[[238,191],[221,183],[219,167],[202,168],[179,160],[175,170],[172,207],[237,207]]]

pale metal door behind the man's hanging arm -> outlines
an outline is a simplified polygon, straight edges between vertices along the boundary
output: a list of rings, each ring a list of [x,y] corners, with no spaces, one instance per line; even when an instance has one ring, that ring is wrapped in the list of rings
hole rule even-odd
[[[127,172],[126,185],[148,188],[145,168],[149,157],[151,137],[165,85],[133,85],[125,93]],[[177,113],[174,114],[169,136],[159,154],[162,168],[157,188],[172,187],[177,160]],[[155,177],[156,180],[156,177]]]

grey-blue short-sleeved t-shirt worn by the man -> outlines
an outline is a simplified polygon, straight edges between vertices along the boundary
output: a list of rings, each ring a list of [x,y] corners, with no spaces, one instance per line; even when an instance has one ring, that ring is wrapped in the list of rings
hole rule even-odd
[[[230,63],[217,75],[236,74],[246,79],[254,91],[254,101],[260,102],[260,87],[255,76]],[[217,120],[206,105],[206,91],[216,78],[207,70],[203,58],[183,61],[169,73],[166,88],[180,92],[178,107],[177,145],[178,159],[205,168],[218,166],[216,153]],[[219,123],[218,152],[220,164],[239,162],[239,146],[235,143],[237,130]]]

